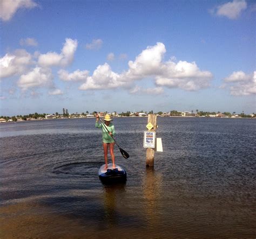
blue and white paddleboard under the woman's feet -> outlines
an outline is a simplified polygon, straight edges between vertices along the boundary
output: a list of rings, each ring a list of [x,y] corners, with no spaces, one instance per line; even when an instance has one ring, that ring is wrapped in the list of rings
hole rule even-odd
[[[126,181],[126,171],[123,167],[116,164],[116,168],[113,168],[113,164],[103,164],[99,168],[99,179],[103,182],[124,182]]]

